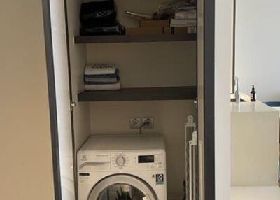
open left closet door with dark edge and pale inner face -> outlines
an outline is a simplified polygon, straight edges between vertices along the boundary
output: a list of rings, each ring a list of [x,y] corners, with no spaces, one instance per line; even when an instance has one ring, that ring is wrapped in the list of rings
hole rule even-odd
[[[66,20],[64,1],[43,1],[45,24],[46,59],[48,62],[48,80],[52,95],[50,109],[52,115],[52,134],[57,133],[52,145],[56,145],[54,161],[55,197],[56,199],[75,199],[73,139],[71,116],[71,86],[66,40]],[[54,101],[55,99],[55,101]],[[55,130],[55,131],[54,131]]]

